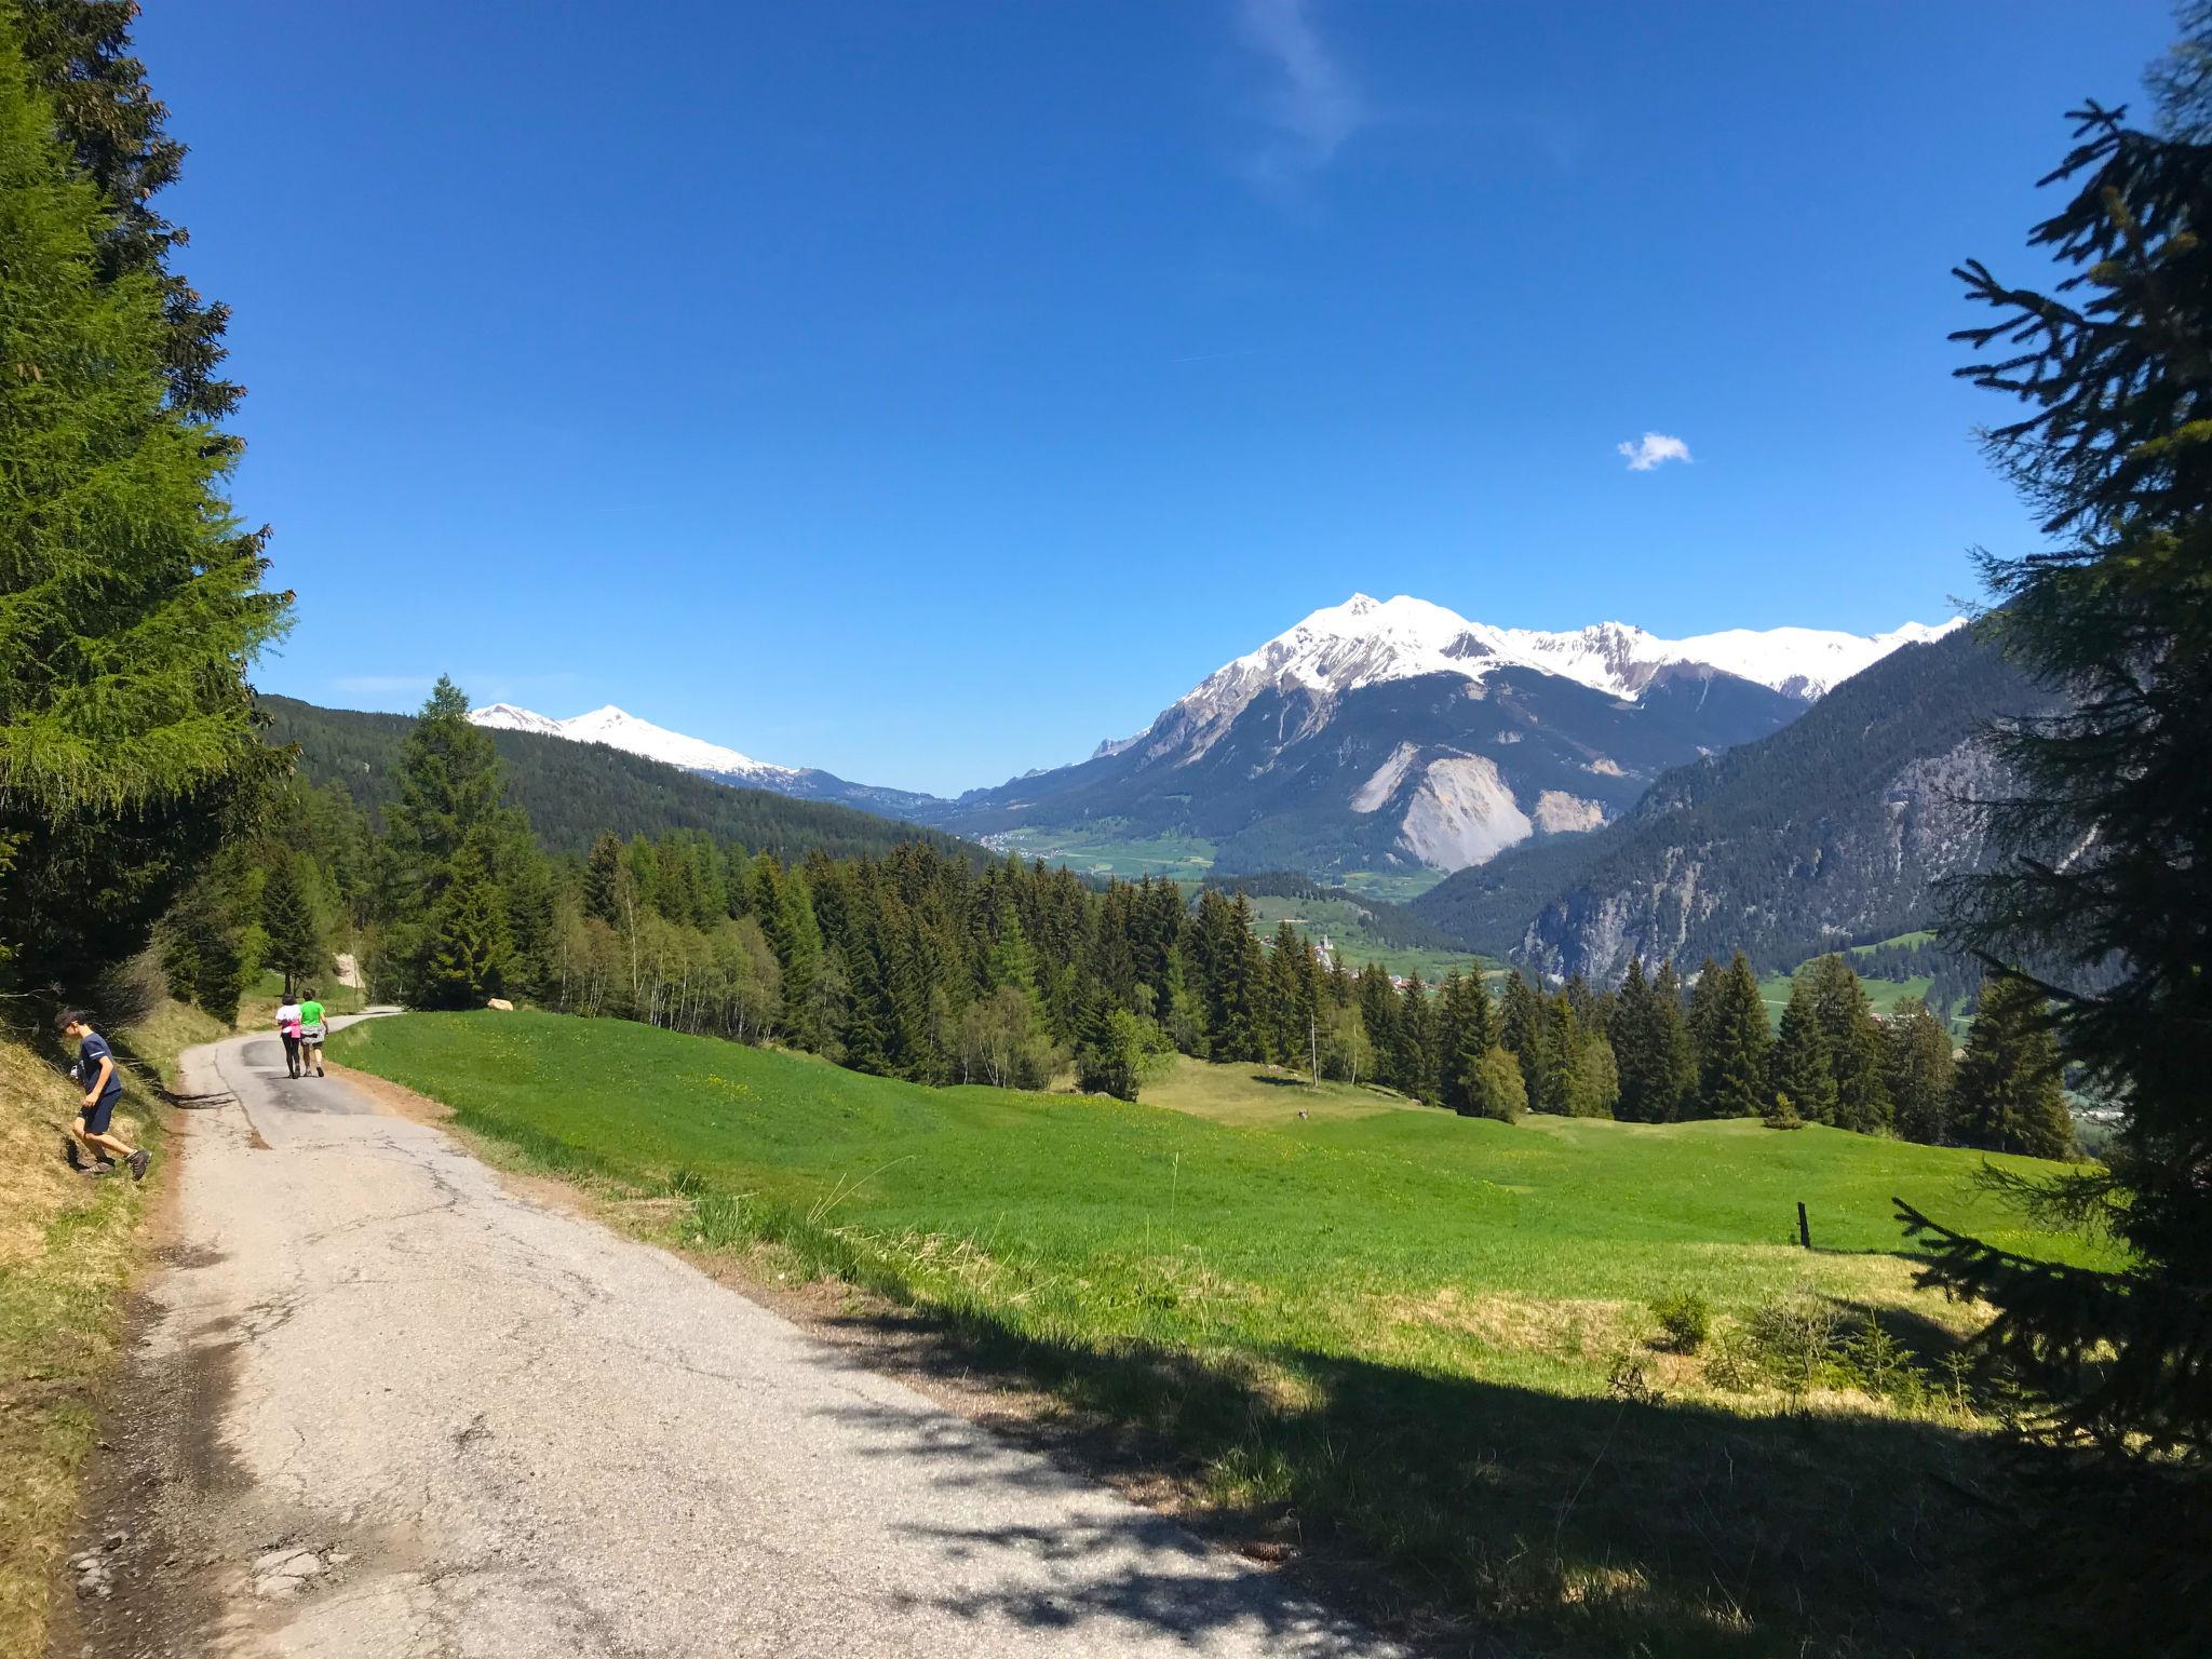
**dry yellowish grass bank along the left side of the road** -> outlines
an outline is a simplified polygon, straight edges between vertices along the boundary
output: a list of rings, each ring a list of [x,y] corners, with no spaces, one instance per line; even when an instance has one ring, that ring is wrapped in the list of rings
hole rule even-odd
[[[115,1365],[139,1214],[164,1179],[150,1075],[223,1035],[159,1006],[111,1031],[124,1066],[119,1133],[155,1148],[146,1186],[62,1161],[80,1093],[55,1051],[0,1035],[0,1655],[46,1650],[46,1590],[77,1517],[77,1471]]]

